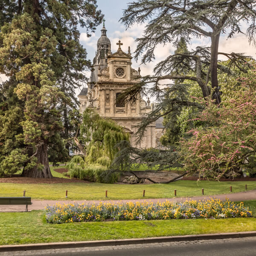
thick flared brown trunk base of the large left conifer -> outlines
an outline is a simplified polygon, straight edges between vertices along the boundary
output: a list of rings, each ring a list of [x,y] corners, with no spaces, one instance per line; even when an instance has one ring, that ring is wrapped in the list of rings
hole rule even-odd
[[[49,167],[49,160],[47,155],[47,144],[40,145],[37,148],[37,163],[42,164],[44,167],[41,170],[38,166],[35,166],[32,169],[26,170],[23,168],[21,176],[23,177],[32,177],[32,178],[52,178],[52,173]]]

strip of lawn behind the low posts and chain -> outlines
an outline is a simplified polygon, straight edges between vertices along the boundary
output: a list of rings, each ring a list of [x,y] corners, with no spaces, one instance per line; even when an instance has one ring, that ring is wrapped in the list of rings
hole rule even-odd
[[[201,195],[204,188],[204,195],[217,195],[230,193],[230,186],[233,192],[244,191],[244,185],[248,189],[256,189],[253,181],[207,181],[199,182],[192,180],[178,180],[169,184],[148,184],[148,185],[123,185],[103,183],[56,183],[56,184],[17,184],[0,183],[1,196],[22,196],[23,190],[26,195],[33,199],[64,200],[65,191],[68,190],[70,200],[117,200],[117,199],[140,199],[143,198],[171,198],[174,197],[174,189],[177,190],[177,197],[191,197]],[[105,198],[105,190],[108,190],[108,198]]]

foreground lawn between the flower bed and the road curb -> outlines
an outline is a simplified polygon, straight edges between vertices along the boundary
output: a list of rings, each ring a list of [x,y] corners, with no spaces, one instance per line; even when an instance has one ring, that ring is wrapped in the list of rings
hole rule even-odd
[[[256,200],[247,201],[245,204],[256,207]],[[33,210],[31,212],[0,212],[0,219],[1,245],[129,239],[256,230],[256,218],[47,224],[44,219],[44,211]]]

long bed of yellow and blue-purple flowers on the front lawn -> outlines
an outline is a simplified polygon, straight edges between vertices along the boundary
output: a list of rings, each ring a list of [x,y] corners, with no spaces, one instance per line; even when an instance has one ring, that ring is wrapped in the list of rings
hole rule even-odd
[[[207,201],[185,201],[184,203],[165,202],[128,202],[113,204],[56,204],[46,207],[46,220],[49,223],[82,221],[130,221],[160,220],[178,218],[235,218],[251,217],[252,212],[244,203],[230,200],[211,199]]]

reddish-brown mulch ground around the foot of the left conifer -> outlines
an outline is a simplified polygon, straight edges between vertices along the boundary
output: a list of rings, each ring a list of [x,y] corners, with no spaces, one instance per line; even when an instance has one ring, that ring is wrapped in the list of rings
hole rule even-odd
[[[55,172],[63,173],[67,172],[67,169],[55,169]],[[64,178],[29,178],[29,177],[20,177],[20,175],[12,175],[11,177],[4,177],[0,178],[0,183],[26,183],[26,184],[54,184],[54,183],[74,183],[74,182],[83,182],[83,183],[90,183],[86,180],[78,180],[76,178],[72,179],[64,179]]]

